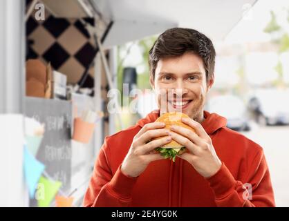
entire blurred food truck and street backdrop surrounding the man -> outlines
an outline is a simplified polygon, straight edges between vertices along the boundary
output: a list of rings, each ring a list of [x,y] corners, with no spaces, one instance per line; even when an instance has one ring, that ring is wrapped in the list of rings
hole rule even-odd
[[[148,52],[177,26],[212,39],[205,110],[263,147],[277,206],[289,206],[286,0],[1,0],[1,206],[81,206],[104,137],[157,108]]]

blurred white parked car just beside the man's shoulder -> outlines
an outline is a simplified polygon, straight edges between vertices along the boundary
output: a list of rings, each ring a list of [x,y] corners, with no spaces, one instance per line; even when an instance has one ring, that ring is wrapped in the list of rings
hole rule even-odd
[[[208,99],[206,110],[227,118],[227,127],[234,131],[250,131],[247,108],[234,95],[220,95]]]

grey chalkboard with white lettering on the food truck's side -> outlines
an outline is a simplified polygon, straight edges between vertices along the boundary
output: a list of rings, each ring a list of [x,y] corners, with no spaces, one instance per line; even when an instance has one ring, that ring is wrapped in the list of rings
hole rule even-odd
[[[68,193],[71,188],[71,102],[26,97],[25,113],[45,124],[36,157],[45,164],[50,177],[62,182],[61,190]]]

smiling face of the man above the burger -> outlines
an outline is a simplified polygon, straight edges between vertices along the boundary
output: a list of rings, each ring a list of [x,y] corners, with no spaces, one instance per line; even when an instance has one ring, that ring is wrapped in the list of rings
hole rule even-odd
[[[182,112],[192,119],[203,119],[203,106],[214,78],[206,83],[203,60],[193,53],[181,57],[160,59],[155,79],[150,79],[155,90],[160,114]]]

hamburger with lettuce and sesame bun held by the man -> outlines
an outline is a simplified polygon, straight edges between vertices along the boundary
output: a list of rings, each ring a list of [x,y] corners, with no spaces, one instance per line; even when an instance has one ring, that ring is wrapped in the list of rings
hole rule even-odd
[[[165,113],[162,114],[158,119],[156,119],[156,122],[164,122],[165,123],[165,128],[170,131],[170,126],[172,125],[177,125],[177,126],[183,126],[190,131],[194,131],[193,128],[188,126],[187,124],[184,124],[182,122],[182,118],[187,118],[189,117],[188,115],[185,115],[184,113],[178,113],[178,112],[170,112],[170,113]],[[156,137],[153,138],[152,140],[158,140],[162,137]],[[169,158],[170,160],[173,160],[173,162],[176,159],[176,155],[180,155],[181,153],[185,152],[185,146],[182,144],[179,144],[175,140],[171,140],[168,144],[165,144],[164,146],[160,146],[155,149],[155,151],[160,152],[160,154],[165,157]]]

